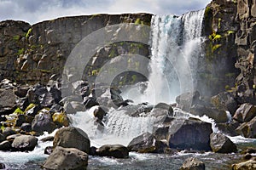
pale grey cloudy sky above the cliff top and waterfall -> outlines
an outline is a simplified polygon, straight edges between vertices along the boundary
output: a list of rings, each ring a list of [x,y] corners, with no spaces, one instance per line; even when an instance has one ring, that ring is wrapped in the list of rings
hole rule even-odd
[[[0,20],[30,24],[84,14],[183,14],[205,8],[211,0],[0,0]]]

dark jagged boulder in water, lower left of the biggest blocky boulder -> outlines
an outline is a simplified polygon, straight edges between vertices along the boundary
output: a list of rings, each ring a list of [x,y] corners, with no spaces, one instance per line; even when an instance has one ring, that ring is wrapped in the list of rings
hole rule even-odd
[[[132,139],[127,148],[130,151],[139,153],[162,153],[168,147],[168,144],[157,140],[151,133],[143,133]]]

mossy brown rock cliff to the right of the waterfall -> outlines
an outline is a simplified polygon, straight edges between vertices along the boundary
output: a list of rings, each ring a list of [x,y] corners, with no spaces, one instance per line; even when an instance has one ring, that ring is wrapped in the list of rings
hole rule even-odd
[[[218,68],[218,81],[230,79],[233,86],[226,90],[235,92],[239,103],[255,104],[255,11],[255,0],[213,0],[205,12],[206,59]]]

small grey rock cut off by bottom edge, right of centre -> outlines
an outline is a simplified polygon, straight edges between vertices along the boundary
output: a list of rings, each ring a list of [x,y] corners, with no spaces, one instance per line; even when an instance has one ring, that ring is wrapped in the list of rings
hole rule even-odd
[[[183,162],[183,166],[180,170],[205,170],[205,163],[197,160],[195,157],[189,157]]]

